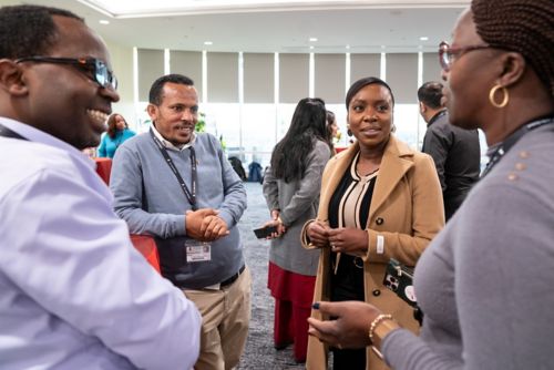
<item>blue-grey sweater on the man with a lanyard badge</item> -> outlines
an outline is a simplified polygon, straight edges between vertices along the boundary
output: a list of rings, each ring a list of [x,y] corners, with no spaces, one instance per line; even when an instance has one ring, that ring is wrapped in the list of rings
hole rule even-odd
[[[150,133],[120,146],[113,158],[110,188],[115,213],[127,223],[130,232],[158,238],[164,276],[179,287],[198,289],[227,279],[244,265],[236,224],[246,209],[246,191],[217,138],[196,134],[194,150],[197,208],[218,209],[230,232],[212,243],[209,261],[186,263],[184,243],[189,238],[185,213],[192,206]],[[191,151],[167,150],[167,153],[191,189]],[[176,264],[178,270],[173,268]],[[173,267],[164,268],[167,266]]]

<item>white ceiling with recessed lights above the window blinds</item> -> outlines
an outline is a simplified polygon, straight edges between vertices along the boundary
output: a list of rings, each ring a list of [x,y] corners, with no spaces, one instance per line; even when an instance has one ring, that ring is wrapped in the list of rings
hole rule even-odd
[[[0,0],[72,10],[126,47],[243,52],[435,51],[469,1]],[[126,2],[131,9],[123,9]],[[168,8],[152,9],[155,6]],[[110,24],[100,24],[109,20]],[[428,37],[428,41],[420,41]],[[317,38],[317,42],[310,42]],[[212,41],[212,45],[205,45]],[[347,49],[349,45],[349,49]],[[314,49],[310,49],[314,47]]]

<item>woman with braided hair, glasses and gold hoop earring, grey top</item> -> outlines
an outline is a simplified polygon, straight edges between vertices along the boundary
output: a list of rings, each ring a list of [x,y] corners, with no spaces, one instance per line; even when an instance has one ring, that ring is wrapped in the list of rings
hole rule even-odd
[[[418,263],[420,337],[357,302],[316,304],[338,319],[312,336],[394,369],[554,369],[553,24],[552,0],[473,0],[441,45],[450,119],[483,130],[490,164]]]

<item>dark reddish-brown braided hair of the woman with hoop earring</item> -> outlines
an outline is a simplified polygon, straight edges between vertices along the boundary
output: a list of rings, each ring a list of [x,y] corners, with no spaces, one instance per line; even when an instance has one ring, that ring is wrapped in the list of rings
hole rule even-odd
[[[554,96],[553,0],[473,0],[471,10],[481,39],[521,53]]]

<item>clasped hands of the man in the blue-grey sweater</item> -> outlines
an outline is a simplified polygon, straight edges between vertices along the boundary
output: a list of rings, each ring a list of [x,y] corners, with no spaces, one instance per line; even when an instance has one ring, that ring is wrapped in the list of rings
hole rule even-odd
[[[201,241],[214,241],[229,235],[227,224],[214,208],[187,210],[185,214],[186,235]]]

